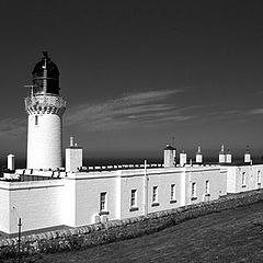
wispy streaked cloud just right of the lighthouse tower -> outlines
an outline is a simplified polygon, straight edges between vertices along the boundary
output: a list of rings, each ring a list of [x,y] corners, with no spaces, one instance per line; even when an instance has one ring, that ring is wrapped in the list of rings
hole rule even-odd
[[[159,90],[125,94],[103,103],[87,103],[68,108],[65,124],[82,130],[114,130],[157,126],[163,122],[182,122],[193,117],[191,107],[180,108],[174,96],[182,90]]]

